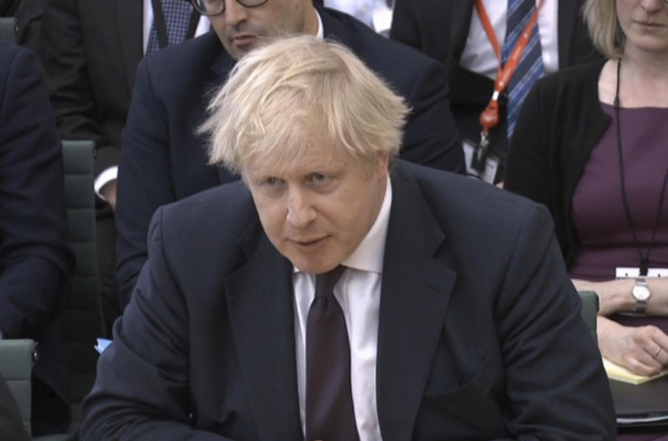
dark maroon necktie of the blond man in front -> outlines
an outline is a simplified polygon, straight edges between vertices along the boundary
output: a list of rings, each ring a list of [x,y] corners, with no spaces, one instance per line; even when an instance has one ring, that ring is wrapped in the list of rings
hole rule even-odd
[[[350,385],[350,344],[334,286],[345,266],[315,278],[306,320],[306,441],[359,440]]]

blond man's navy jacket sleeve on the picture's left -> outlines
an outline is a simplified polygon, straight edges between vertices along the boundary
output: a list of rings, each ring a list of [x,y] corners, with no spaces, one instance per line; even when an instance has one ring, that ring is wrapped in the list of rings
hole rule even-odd
[[[166,259],[161,214],[150,226],[148,264],[82,404],[84,440],[227,440],[191,427],[188,307]]]

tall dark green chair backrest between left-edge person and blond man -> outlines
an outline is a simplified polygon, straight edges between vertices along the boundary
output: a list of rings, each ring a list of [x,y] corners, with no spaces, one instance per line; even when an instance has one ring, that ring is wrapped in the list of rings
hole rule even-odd
[[[77,266],[70,303],[61,316],[70,359],[72,421],[79,420],[79,404],[95,381],[95,339],[102,336],[100,296],[97,291],[95,194],[92,141],[63,141],[65,200],[70,241]]]

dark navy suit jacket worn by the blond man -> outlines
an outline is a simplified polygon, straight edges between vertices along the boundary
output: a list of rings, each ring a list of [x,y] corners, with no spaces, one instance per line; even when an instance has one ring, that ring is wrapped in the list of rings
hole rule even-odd
[[[301,440],[292,265],[243,183],[159,209],[84,401],[91,440]],[[376,397],[383,440],[612,440],[550,214],[398,161]]]

